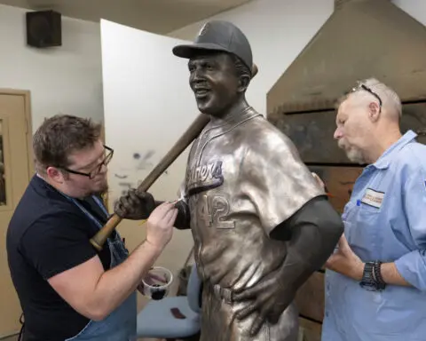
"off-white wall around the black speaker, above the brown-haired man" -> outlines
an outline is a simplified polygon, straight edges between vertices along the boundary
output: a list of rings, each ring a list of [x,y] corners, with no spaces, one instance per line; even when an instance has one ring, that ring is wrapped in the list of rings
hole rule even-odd
[[[27,46],[26,10],[0,5],[0,88],[31,91],[33,131],[44,117],[103,121],[99,23],[62,17],[62,46]]]

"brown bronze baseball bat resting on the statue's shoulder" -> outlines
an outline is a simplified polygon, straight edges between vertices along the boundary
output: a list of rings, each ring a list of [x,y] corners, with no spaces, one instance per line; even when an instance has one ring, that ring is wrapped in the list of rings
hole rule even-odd
[[[256,64],[253,64],[252,75],[253,78],[257,74],[258,68]],[[194,139],[196,139],[204,127],[209,123],[209,115],[200,114],[189,126],[189,128],[184,132],[184,134],[177,140],[175,145],[171,147],[170,151],[164,155],[160,163],[158,163],[154,170],[151,171],[147,177],[140,183],[138,186],[138,191],[146,192],[149,187],[151,187],[155,180],[159,178],[164,171],[168,169],[171,163],[173,163],[179,155],[181,155],[186,147],[188,147]],[[91,245],[97,250],[102,250],[103,245],[106,242],[106,239],[113,233],[114,229],[120,222],[122,218],[117,214],[113,214],[111,218],[108,219],[105,226],[102,226],[99,229],[98,233],[91,238]]]

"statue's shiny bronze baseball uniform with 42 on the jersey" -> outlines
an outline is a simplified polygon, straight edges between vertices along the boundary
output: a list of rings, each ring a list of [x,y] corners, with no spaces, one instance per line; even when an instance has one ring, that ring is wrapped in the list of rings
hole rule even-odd
[[[248,107],[220,125],[209,123],[193,142],[183,189],[204,282],[201,338],[290,340],[297,319],[292,306],[277,325],[268,324],[250,338],[251,319],[233,318],[248,303],[232,303],[231,297],[282,264],[286,242],[269,234],[305,202],[324,194],[296,147]],[[215,335],[219,330],[228,332]]]

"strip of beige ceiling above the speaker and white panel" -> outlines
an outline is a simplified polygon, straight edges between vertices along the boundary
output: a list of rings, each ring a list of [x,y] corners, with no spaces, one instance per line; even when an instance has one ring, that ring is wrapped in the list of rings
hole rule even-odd
[[[111,20],[132,28],[167,34],[250,0],[0,0],[33,11],[54,10],[82,20]]]

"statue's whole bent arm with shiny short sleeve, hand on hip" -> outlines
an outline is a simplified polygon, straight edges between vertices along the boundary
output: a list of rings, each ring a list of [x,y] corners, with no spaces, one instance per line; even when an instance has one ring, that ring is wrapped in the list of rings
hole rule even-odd
[[[244,159],[245,194],[264,232],[285,242],[283,263],[233,295],[236,301],[250,303],[237,318],[258,313],[250,329],[256,335],[266,319],[280,320],[297,289],[325,264],[343,234],[343,221],[288,138],[271,129],[252,135],[264,144],[251,145]]]

